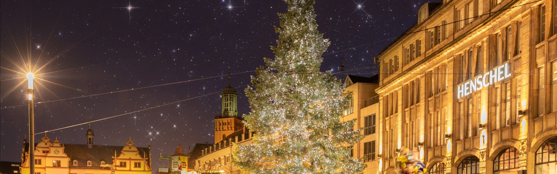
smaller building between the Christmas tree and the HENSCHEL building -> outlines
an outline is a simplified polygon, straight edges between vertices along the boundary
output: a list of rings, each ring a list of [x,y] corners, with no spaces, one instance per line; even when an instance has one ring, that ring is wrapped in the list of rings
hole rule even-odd
[[[345,91],[350,91],[352,100],[350,107],[344,111],[341,121],[355,119],[354,130],[362,129],[364,139],[352,147],[351,155],[363,159],[367,166],[363,173],[377,173],[379,171],[379,95],[375,89],[379,86],[379,76],[364,78],[347,75],[344,80]]]

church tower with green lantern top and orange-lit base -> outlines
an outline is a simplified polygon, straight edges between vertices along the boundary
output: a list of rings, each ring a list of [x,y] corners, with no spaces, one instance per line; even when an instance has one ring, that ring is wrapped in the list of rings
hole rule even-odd
[[[228,68],[228,87],[222,90],[222,112],[214,118],[214,143],[222,141],[226,136],[242,128],[242,120],[238,119],[238,93],[232,88],[230,68]]]

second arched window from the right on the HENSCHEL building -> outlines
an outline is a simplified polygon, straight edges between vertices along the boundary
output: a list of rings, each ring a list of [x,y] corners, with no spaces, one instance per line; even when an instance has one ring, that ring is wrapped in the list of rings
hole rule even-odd
[[[520,154],[515,147],[509,147],[497,154],[493,161],[493,173],[517,173]],[[502,172],[505,171],[505,172]]]

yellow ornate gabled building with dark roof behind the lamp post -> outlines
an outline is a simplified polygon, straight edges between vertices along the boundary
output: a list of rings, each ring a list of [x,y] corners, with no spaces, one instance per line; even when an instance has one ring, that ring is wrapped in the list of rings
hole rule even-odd
[[[24,139],[21,173],[29,173],[30,162],[35,163],[35,174],[153,173],[150,143],[146,148],[136,147],[130,137],[123,147],[95,145],[91,128],[87,130],[86,139],[86,144],[62,144],[58,138],[51,142],[45,134],[42,141],[35,144],[35,161],[28,160],[30,144]]]

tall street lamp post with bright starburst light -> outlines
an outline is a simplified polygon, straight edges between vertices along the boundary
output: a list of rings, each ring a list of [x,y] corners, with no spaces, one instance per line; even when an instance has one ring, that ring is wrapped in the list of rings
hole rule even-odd
[[[29,173],[35,173],[35,114],[33,113],[33,73],[27,74],[27,96],[29,99]]]

